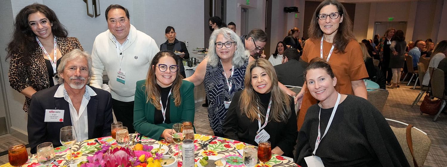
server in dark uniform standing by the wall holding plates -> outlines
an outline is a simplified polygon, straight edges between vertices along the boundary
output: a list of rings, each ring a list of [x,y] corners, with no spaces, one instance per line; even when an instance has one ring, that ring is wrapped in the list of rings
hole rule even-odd
[[[185,67],[183,67],[183,59],[189,59],[190,53],[188,52],[188,48],[186,48],[186,44],[177,40],[176,35],[177,33],[175,32],[174,27],[166,27],[166,30],[164,30],[164,36],[166,36],[168,40],[160,45],[160,51],[166,50],[176,53],[176,57],[180,63],[178,64],[178,66],[180,67],[179,73],[183,78],[186,78]]]

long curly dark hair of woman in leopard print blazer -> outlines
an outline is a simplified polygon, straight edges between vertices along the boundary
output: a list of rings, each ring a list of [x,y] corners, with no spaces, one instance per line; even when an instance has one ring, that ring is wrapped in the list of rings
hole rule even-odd
[[[67,37],[68,31],[65,29],[65,26],[60,23],[56,13],[53,10],[43,4],[30,4],[21,9],[16,16],[13,36],[11,41],[8,43],[8,47],[5,49],[8,52],[6,60],[12,56],[13,52],[20,51],[22,52],[22,61],[25,64],[30,62],[30,55],[34,52],[34,49],[38,47],[38,44],[36,42],[36,34],[34,34],[33,30],[31,30],[28,24],[28,16],[37,12],[43,13],[45,17],[48,18],[50,23],[53,24],[53,26],[51,26],[51,33],[55,37]]]

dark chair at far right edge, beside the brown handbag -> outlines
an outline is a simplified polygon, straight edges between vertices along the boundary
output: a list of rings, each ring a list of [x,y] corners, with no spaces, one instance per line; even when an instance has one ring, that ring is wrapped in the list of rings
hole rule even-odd
[[[444,71],[441,69],[433,68],[433,74],[430,78],[431,81],[431,92],[435,98],[439,98],[442,100],[441,107],[439,108],[438,114],[434,116],[433,121],[436,121],[439,114],[443,111],[444,106],[446,105],[447,96],[444,94]]]

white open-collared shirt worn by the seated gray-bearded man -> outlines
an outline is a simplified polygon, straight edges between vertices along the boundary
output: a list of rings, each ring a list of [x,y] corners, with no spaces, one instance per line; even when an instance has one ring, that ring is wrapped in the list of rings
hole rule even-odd
[[[89,104],[90,96],[96,96],[96,92],[93,91],[90,86],[85,85],[85,93],[82,97],[82,102],[79,107],[79,114],[76,112],[75,107],[73,107],[72,100],[65,90],[64,84],[61,84],[54,95],[55,98],[64,98],[68,102],[70,108],[70,117],[72,119],[72,126],[76,130],[76,140],[84,141],[89,139],[89,121],[87,115],[87,104]]]

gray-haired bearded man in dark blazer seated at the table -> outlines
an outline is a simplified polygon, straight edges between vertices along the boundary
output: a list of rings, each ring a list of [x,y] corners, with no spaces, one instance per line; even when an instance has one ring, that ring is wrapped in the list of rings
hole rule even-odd
[[[57,68],[59,85],[38,91],[31,98],[28,112],[28,141],[31,154],[43,142],[62,146],[60,128],[73,126],[76,140],[110,136],[112,96],[109,92],[87,86],[92,59],[75,49],[60,59]]]

